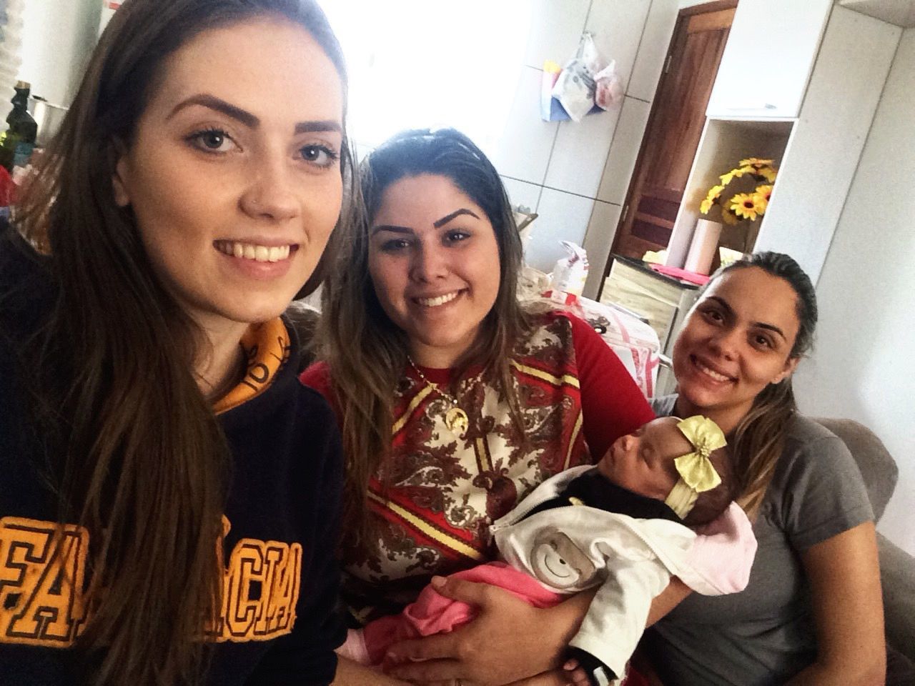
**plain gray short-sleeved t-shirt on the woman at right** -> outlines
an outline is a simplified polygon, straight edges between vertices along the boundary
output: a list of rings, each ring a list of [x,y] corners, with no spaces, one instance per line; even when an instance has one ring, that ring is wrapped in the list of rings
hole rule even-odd
[[[667,396],[652,406],[659,416],[670,415],[675,400]],[[645,634],[664,686],[782,684],[811,664],[816,637],[800,553],[873,519],[842,440],[793,417],[753,525],[759,549],[747,589],[689,595]]]

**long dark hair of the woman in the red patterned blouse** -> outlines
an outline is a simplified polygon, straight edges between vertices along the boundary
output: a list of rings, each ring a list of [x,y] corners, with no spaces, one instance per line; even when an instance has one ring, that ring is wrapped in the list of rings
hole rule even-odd
[[[393,399],[407,364],[408,341],[385,314],[369,275],[369,230],[384,191],[406,177],[449,178],[468,195],[495,231],[501,281],[481,335],[458,360],[453,383],[470,365],[481,367],[522,423],[511,379],[511,350],[527,330],[517,299],[522,243],[501,177],[486,155],[454,129],[421,129],[393,136],[363,161],[360,169],[364,213],[340,237],[337,267],[323,293],[318,356],[328,363],[343,416],[347,460],[344,494],[344,546],[366,541],[369,480],[391,449]]]

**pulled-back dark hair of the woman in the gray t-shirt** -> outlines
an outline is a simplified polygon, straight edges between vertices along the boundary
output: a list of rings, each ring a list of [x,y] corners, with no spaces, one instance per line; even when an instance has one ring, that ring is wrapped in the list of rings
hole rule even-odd
[[[709,284],[722,274],[738,269],[758,267],[771,276],[783,279],[797,295],[795,312],[798,333],[788,354],[800,359],[813,347],[816,329],[816,291],[810,277],[789,255],[780,252],[755,252],[747,258],[719,269]],[[706,286],[707,287],[707,286]],[[769,488],[775,465],[785,447],[785,432],[791,416],[797,412],[791,374],[778,383],[770,383],[753,401],[747,414],[737,423],[730,449],[737,460],[737,502],[751,518],[759,512]]]

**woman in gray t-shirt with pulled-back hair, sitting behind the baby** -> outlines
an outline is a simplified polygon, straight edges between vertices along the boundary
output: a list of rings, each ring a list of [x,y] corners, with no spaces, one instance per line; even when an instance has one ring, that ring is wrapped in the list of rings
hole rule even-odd
[[[646,634],[665,686],[883,683],[867,492],[842,441],[799,416],[791,391],[815,324],[810,279],[764,252],[716,273],[676,340],[678,395],[654,409],[705,414],[729,435],[759,550],[744,592],[687,597]]]

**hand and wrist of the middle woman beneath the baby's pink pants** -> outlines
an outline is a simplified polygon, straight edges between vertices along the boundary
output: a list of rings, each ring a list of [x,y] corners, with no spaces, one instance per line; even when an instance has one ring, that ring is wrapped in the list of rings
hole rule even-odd
[[[586,591],[538,609],[489,584],[439,577],[432,583],[440,594],[476,606],[479,614],[451,633],[393,645],[388,658],[405,662],[390,670],[398,679],[501,686],[553,670],[594,595]]]

